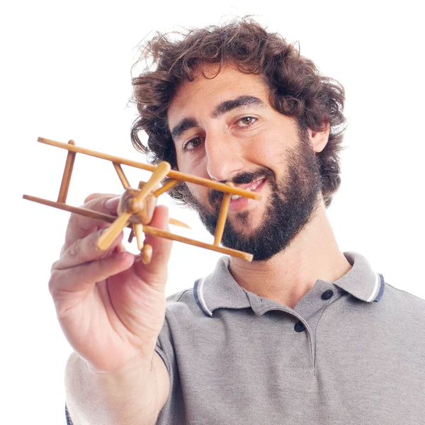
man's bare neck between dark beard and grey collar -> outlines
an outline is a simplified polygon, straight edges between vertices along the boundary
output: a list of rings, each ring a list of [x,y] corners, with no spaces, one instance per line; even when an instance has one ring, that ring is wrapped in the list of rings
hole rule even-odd
[[[293,308],[317,279],[333,282],[350,268],[321,202],[288,249],[268,261],[248,263],[232,257],[229,271],[245,290]]]

